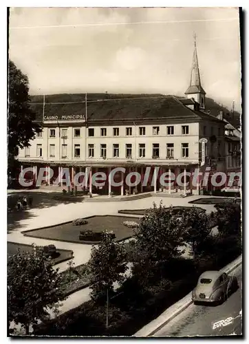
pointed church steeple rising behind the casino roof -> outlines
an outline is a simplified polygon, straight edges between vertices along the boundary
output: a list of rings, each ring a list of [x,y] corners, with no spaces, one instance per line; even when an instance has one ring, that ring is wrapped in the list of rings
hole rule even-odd
[[[188,98],[194,98],[201,109],[205,109],[205,94],[206,92],[202,88],[201,78],[199,76],[199,65],[198,65],[198,56],[197,56],[197,47],[196,47],[196,34],[194,34],[194,54],[193,54],[193,63],[191,69],[191,83],[186,90],[185,94]]]

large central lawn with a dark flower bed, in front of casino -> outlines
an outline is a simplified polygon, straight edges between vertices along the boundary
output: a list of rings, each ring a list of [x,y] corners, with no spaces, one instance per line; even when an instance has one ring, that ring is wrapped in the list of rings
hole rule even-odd
[[[41,239],[52,239],[58,241],[74,242],[76,244],[94,244],[91,241],[82,241],[78,238],[80,231],[92,230],[93,232],[101,232],[105,229],[112,230],[116,235],[116,241],[127,239],[134,235],[131,228],[127,228],[123,224],[125,221],[139,222],[138,217],[125,217],[115,215],[91,216],[86,217],[87,224],[83,226],[73,226],[72,222],[59,224],[36,230],[26,230],[22,233],[28,237],[37,237]],[[97,243],[97,242],[96,242]]]

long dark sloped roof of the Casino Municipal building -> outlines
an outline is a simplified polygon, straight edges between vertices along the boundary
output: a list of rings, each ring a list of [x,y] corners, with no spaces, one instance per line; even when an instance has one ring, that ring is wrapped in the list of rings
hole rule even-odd
[[[108,98],[107,98],[108,97]],[[43,118],[43,96],[32,97],[36,120]],[[45,116],[85,116],[85,94],[59,94],[45,96]],[[87,94],[87,122],[166,120],[183,122],[205,120],[219,121],[202,111],[194,111],[174,96],[160,94]]]

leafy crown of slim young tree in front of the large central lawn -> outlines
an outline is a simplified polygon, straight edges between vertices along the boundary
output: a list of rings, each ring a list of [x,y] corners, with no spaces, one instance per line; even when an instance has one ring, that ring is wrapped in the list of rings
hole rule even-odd
[[[126,252],[122,244],[113,239],[111,232],[105,230],[98,247],[91,249],[89,260],[91,281],[91,299],[101,301],[113,292],[113,283],[122,282],[127,270]]]

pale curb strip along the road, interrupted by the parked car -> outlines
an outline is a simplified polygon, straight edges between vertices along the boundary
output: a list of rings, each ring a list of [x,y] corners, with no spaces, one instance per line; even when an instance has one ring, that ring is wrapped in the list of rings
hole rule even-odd
[[[232,265],[232,267],[228,267],[233,263],[235,265]],[[222,268],[220,271],[224,271],[224,272],[229,274],[230,272],[232,272],[232,270],[235,270],[235,268],[237,268],[241,264],[242,264],[242,255],[240,255],[237,259],[235,259],[230,264],[228,264],[227,266]],[[186,300],[184,300],[184,299],[186,299]],[[149,323],[148,325],[145,325],[144,327],[142,327],[142,329],[139,330],[138,332],[136,332],[136,334],[133,334],[133,336],[134,337],[149,337],[149,336],[153,336],[153,334],[155,334],[156,332],[161,330],[162,327],[164,327],[167,323],[169,323],[171,320],[173,320],[177,315],[182,313],[184,310],[186,310],[186,308],[188,308],[190,305],[193,304],[193,301],[191,300],[191,292],[189,292],[183,299],[181,299],[177,303],[181,303],[181,302],[183,302],[183,304],[180,306],[180,308],[178,310],[176,310],[175,312],[173,312],[173,314],[171,314],[167,319],[164,319],[164,320],[162,320],[161,323],[158,323],[158,325],[155,324],[155,328],[153,330],[149,330],[149,329],[147,330],[146,327],[149,326],[150,324],[153,325],[153,322],[156,323],[158,318],[160,318],[161,316],[163,317],[164,313],[162,313],[157,319],[151,321],[151,323]],[[165,312],[167,312],[167,311],[169,312],[169,308]]]

